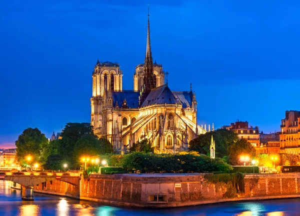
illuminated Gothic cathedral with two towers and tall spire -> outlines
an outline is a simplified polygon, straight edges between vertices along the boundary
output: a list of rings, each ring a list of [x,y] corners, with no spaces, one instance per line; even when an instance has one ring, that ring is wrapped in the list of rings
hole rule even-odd
[[[144,63],[135,67],[133,90],[122,89],[118,63],[97,60],[92,72],[91,125],[116,152],[125,153],[136,141],[147,139],[155,153],[188,148],[206,128],[197,125],[195,92],[171,91],[162,64],[153,63],[148,14]]]

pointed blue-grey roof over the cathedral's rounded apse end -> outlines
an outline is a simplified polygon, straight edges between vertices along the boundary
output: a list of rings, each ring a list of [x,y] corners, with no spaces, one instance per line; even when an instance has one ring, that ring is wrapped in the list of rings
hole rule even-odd
[[[160,85],[151,89],[148,96],[145,98],[141,106],[152,104],[180,104],[167,84]]]

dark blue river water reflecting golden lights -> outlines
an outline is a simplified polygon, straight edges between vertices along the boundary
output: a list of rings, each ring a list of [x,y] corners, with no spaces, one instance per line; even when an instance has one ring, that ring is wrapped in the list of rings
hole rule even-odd
[[[300,215],[300,198],[227,202],[190,207],[144,209],[109,206],[91,201],[34,193],[34,201],[22,201],[20,190],[11,189],[10,181],[0,180],[0,216],[21,215],[200,215],[200,216],[286,216]]]

